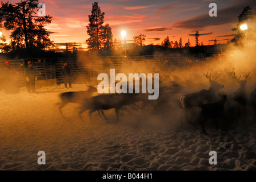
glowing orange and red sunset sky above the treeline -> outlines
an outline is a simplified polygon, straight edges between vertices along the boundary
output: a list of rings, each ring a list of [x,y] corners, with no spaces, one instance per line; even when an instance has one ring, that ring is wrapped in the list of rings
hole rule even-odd
[[[10,3],[20,1],[10,0]],[[86,47],[89,38],[86,26],[89,23],[92,4],[89,0],[39,0],[46,5],[46,14],[53,16],[51,24],[46,28],[50,39],[59,45],[81,43]],[[209,16],[209,4],[216,3],[217,17]],[[113,38],[123,40],[121,31],[126,30],[127,43],[132,43],[133,36],[146,35],[145,44],[161,44],[169,36],[175,42],[180,38],[183,44],[190,39],[195,45],[194,34],[199,31],[199,42],[205,45],[226,43],[234,37],[231,28],[238,21],[243,7],[250,5],[253,11],[254,0],[101,0],[98,1],[101,11],[105,13],[105,23],[112,28]],[[10,32],[2,30],[9,42]],[[130,40],[130,41],[129,41]]]

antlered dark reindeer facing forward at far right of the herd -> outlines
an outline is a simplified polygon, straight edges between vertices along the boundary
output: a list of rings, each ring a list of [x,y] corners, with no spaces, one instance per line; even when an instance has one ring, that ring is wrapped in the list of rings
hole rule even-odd
[[[245,87],[249,74],[250,72],[247,75],[244,75],[245,80],[240,80],[241,76],[237,77],[235,72],[233,72],[232,77],[238,82],[239,87],[227,96],[227,113],[230,114],[229,117],[231,121],[241,117],[241,115],[245,113],[247,104]]]

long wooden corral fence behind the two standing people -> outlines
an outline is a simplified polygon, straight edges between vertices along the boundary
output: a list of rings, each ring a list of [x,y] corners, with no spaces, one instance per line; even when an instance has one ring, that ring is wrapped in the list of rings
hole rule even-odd
[[[115,69],[115,73],[154,73],[161,70],[166,59],[175,67],[183,67],[185,64],[181,56],[98,56],[79,61],[65,57],[38,57],[8,61],[10,66],[18,72],[19,85],[25,86],[25,69],[28,67],[28,61],[31,61],[37,71],[38,80],[55,79],[56,84],[59,85],[63,83],[61,68],[65,61],[71,69],[72,82],[91,84],[91,82],[97,82],[99,73],[109,75],[111,68]],[[0,64],[0,69],[3,67],[5,67],[4,61]],[[4,79],[4,76],[0,76],[0,81],[1,79]]]

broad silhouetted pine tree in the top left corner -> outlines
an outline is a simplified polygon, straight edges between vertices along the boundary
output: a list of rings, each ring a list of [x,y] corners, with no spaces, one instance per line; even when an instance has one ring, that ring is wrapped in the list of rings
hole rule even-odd
[[[54,48],[45,25],[51,23],[50,15],[38,16],[38,0],[26,0],[15,4],[1,2],[0,19],[6,30],[11,30],[11,49]]]

